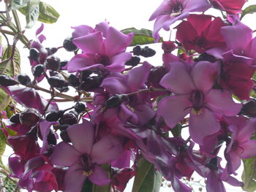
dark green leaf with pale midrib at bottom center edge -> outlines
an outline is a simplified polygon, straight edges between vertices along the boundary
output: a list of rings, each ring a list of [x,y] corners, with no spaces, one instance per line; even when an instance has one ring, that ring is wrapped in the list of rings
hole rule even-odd
[[[132,192],[159,192],[162,174],[155,171],[154,165],[141,157],[135,174]]]

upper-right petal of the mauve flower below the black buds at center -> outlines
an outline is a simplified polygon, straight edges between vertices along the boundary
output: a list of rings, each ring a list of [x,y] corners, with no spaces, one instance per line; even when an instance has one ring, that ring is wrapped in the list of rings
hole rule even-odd
[[[148,62],[144,62],[142,66],[129,70],[127,75],[128,85],[131,88],[131,91],[138,91],[138,89],[145,85],[151,68],[151,64],[148,64]]]

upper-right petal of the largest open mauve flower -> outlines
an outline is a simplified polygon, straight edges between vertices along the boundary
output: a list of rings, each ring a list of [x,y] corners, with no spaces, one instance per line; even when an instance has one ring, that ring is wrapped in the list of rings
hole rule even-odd
[[[193,71],[192,77],[197,89],[206,92],[212,88],[219,73],[219,63],[199,61]]]

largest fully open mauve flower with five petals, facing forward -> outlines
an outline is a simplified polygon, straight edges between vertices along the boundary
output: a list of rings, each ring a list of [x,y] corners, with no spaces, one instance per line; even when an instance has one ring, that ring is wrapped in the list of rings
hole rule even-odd
[[[158,114],[173,128],[189,114],[189,134],[203,145],[203,138],[219,131],[216,115],[237,115],[241,104],[236,104],[229,91],[212,89],[218,64],[200,61],[197,64],[173,62],[160,84],[175,93],[159,101]],[[190,69],[189,69],[190,68]]]

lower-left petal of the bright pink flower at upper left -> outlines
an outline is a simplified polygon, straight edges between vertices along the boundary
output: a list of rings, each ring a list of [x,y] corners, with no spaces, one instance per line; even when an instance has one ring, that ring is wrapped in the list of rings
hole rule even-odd
[[[95,64],[94,55],[78,54],[75,55],[67,64],[69,73],[83,71],[87,66]]]

